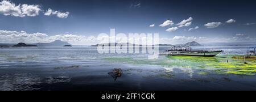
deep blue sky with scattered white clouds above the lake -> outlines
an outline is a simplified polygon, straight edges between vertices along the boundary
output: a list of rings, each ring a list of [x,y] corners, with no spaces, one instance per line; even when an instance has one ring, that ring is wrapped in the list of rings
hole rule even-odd
[[[0,43],[97,44],[100,33],[159,33],[162,44],[256,42],[253,0],[0,0]]]

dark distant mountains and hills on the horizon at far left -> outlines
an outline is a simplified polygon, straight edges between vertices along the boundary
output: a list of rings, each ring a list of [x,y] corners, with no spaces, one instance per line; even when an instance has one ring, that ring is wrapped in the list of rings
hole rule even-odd
[[[17,45],[17,44],[0,44],[0,46],[14,46],[14,45]],[[21,45],[21,44],[20,44]],[[23,44],[24,45],[24,44]],[[23,46],[21,45],[21,46]],[[65,42],[65,41],[61,41],[61,40],[56,40],[56,41],[53,41],[53,42],[49,42],[49,43],[35,43],[35,44],[26,44],[26,45],[36,45],[36,46],[64,46],[64,45],[71,45],[69,44],[68,42]],[[24,45],[24,46],[26,46]],[[19,45],[18,45],[19,46]]]

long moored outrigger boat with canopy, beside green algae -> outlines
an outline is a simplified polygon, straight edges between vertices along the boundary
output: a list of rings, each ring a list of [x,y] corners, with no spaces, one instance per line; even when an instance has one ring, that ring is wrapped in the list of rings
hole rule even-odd
[[[214,57],[217,54],[223,52],[223,50],[208,51],[208,50],[192,50],[189,46],[171,46],[168,50],[165,50],[162,54],[170,56],[205,56]]]

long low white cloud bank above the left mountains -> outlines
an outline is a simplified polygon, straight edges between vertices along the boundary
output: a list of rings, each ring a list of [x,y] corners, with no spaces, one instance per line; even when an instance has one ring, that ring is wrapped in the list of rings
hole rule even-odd
[[[26,42],[29,44],[37,42],[52,42],[55,40],[68,41],[73,45],[91,45],[99,42],[94,36],[80,36],[72,34],[48,36],[46,33],[27,33],[25,31],[0,30],[1,43]]]

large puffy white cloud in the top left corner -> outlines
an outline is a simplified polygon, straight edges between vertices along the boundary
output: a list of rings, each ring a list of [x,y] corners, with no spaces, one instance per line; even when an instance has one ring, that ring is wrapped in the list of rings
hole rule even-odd
[[[0,2],[0,14],[5,16],[37,16],[40,11],[39,5],[15,5],[15,3],[6,0]]]

